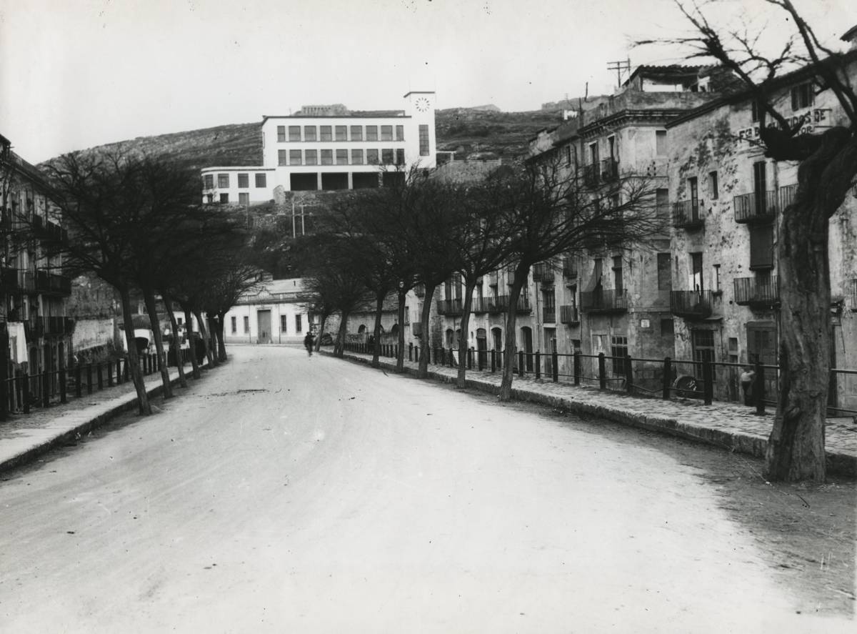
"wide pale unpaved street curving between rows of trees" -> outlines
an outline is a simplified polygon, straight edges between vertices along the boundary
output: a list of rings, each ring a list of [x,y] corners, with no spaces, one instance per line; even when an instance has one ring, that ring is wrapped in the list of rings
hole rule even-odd
[[[160,414],[3,474],[0,631],[854,626],[853,514],[824,509],[836,577],[808,591],[729,500],[737,472],[709,468],[752,477],[740,456],[294,348],[230,353]],[[759,513],[788,526],[803,502],[769,488]],[[818,513],[831,491],[801,498]]]

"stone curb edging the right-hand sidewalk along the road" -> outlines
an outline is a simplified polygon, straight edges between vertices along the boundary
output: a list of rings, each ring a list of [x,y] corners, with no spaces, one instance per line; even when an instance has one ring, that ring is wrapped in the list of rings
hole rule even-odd
[[[322,352],[328,356],[333,356],[331,353]],[[343,359],[370,365],[369,359],[363,357],[354,357],[345,354]],[[380,361],[380,366],[387,370],[395,371],[396,365],[387,361]],[[405,374],[416,374],[413,368],[405,366]],[[455,383],[455,377],[450,377],[446,374],[440,374],[428,370],[428,378],[440,383]],[[474,378],[467,378],[464,381],[467,388],[478,389],[482,392],[494,394],[496,386],[491,383],[485,383]],[[658,416],[656,414],[638,414],[637,412],[629,412],[620,408],[606,408],[602,405],[590,405],[589,403],[581,402],[573,398],[563,398],[560,396],[551,396],[546,394],[537,394],[526,389],[515,388],[512,386],[512,398],[520,402],[534,402],[540,405],[547,405],[554,409],[561,409],[572,414],[584,414],[597,416],[602,419],[610,420],[621,425],[638,427],[648,432],[662,433],[676,438],[683,438],[692,442],[708,444],[722,450],[731,451],[734,453],[753,456],[756,458],[764,458],[765,450],[768,446],[768,438],[758,436],[757,434],[742,433],[742,432],[725,432],[720,429],[711,429],[692,425],[690,423],[682,423],[680,420],[669,418],[668,416]],[[617,395],[617,398],[621,396]],[[826,469],[829,474],[842,475],[850,478],[857,477],[857,456],[849,456],[835,451],[826,451]]]

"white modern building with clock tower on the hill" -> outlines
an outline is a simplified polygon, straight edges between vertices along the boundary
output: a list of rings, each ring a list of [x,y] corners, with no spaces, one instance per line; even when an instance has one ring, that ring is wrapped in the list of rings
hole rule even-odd
[[[382,186],[411,167],[433,168],[433,92],[410,92],[404,109],[349,112],[304,106],[262,118],[261,166],[207,167],[203,201],[250,205],[279,191],[353,190]]]

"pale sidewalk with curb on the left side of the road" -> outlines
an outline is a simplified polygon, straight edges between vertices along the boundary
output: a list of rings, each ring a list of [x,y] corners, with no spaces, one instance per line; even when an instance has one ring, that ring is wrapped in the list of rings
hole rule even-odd
[[[190,367],[185,367],[188,380]],[[178,371],[170,370],[171,383],[178,384]],[[146,391],[156,396],[163,391],[158,372],[146,377]],[[74,442],[90,430],[124,412],[135,410],[137,393],[130,381],[109,389],[69,399],[64,405],[33,408],[30,414],[9,414],[0,422],[0,472],[33,462],[54,447]]]

